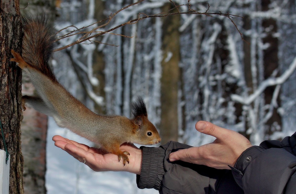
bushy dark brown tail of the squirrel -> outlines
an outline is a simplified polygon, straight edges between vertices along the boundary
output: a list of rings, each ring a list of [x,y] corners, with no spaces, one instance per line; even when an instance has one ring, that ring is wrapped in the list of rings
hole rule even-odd
[[[53,22],[45,14],[38,13],[22,17],[22,25],[22,58],[56,81],[48,65],[56,41]]]

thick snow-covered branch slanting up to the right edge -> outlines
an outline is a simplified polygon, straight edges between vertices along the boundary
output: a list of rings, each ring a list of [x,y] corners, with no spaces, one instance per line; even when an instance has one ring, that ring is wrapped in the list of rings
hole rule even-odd
[[[294,72],[296,68],[296,57],[294,58],[293,62],[289,66],[289,68],[279,77],[277,78],[268,78],[261,82],[258,89],[248,97],[242,97],[237,94],[232,94],[231,99],[233,101],[239,102],[243,105],[250,105],[268,86],[275,86],[283,84]]]

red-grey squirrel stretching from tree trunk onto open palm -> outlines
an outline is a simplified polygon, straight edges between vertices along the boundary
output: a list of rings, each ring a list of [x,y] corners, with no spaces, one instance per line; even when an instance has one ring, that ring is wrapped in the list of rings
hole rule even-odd
[[[153,145],[161,138],[155,126],[147,118],[144,100],[138,97],[131,103],[132,119],[118,115],[97,115],[92,112],[57,81],[49,67],[48,60],[56,41],[53,23],[45,15],[22,17],[24,32],[22,56],[11,51],[14,61],[27,73],[38,93],[37,97],[22,96],[22,109],[25,105],[38,112],[52,116],[58,126],[99,144],[108,153],[129,163],[127,151],[119,147],[125,142]]]

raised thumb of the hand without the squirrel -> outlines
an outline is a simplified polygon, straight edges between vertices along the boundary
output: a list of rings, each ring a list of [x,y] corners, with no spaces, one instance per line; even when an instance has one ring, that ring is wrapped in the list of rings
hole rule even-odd
[[[211,135],[218,139],[227,137],[227,134],[232,132],[229,129],[224,129],[207,121],[198,121],[195,124],[195,129],[203,134]]]

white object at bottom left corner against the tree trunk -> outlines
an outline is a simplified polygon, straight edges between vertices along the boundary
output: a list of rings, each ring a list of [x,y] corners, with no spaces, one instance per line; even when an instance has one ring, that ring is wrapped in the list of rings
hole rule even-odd
[[[10,155],[6,164],[6,152],[0,150],[0,194],[8,194],[9,192],[9,164]]]

